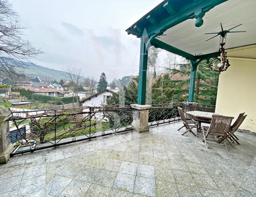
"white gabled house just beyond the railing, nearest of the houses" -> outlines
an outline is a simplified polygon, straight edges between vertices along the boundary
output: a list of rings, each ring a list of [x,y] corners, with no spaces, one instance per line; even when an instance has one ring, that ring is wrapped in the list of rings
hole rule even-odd
[[[119,89],[105,89],[80,102],[82,106],[101,106],[102,104],[107,104],[107,99],[110,99],[110,96],[112,96],[113,93],[117,93],[117,91],[119,91]]]

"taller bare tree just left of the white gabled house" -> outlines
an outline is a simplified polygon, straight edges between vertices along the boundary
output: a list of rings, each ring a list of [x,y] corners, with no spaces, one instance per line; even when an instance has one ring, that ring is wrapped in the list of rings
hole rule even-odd
[[[71,86],[73,87],[73,93],[77,98],[77,105],[79,106],[79,87],[82,83],[82,68],[77,68],[75,66],[67,66],[62,69],[65,72],[65,78],[69,80]],[[74,98],[74,97],[73,97]],[[74,103],[74,99],[73,99]]]

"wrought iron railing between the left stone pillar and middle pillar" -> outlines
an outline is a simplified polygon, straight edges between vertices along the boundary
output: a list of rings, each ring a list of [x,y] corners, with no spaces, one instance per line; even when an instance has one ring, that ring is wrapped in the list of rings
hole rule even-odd
[[[11,121],[16,127],[16,132],[8,136],[13,142],[16,139],[16,148],[12,155],[133,130],[133,112],[130,107],[88,107],[11,113]]]

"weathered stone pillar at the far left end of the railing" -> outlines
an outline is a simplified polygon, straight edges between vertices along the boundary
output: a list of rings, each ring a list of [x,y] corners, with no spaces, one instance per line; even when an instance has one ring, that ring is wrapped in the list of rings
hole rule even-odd
[[[11,117],[10,111],[5,106],[0,106],[0,164],[6,164],[13,152],[13,144],[7,136],[10,134],[9,121]]]

